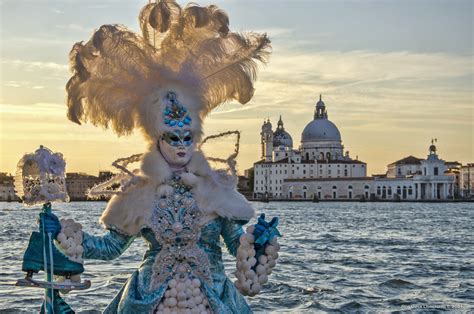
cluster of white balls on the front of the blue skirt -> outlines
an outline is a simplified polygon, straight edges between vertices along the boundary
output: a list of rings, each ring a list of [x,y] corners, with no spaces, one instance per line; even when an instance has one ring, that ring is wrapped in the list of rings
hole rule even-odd
[[[180,278],[176,275],[168,283],[163,300],[158,305],[156,314],[208,314],[209,302],[202,293],[201,281],[194,278]]]

